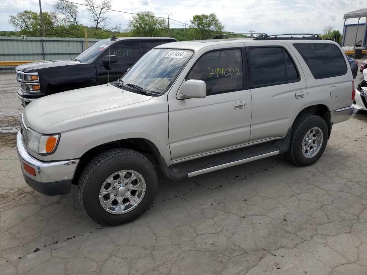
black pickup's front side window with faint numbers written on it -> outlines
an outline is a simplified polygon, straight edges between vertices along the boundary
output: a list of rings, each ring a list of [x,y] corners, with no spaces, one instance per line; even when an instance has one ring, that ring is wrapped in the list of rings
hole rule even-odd
[[[110,52],[107,49],[105,55],[116,55],[117,64],[135,63],[140,58],[139,42],[126,41],[111,46]]]

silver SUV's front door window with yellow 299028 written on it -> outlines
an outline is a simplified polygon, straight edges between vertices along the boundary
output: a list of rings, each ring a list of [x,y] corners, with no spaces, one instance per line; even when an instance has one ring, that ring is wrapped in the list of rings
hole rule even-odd
[[[209,52],[196,62],[186,80],[206,83],[207,95],[243,89],[243,66],[240,49]]]

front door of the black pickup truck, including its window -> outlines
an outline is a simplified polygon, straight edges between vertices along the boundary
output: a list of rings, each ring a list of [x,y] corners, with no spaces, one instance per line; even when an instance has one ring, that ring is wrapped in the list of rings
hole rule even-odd
[[[142,52],[141,41],[139,40],[123,40],[117,41],[111,45],[110,50],[107,49],[97,61],[97,77],[98,84],[108,82],[108,71],[110,71],[110,81],[116,81],[123,76],[135,62],[140,58]],[[102,58],[106,55],[116,55],[117,63],[104,65]]]

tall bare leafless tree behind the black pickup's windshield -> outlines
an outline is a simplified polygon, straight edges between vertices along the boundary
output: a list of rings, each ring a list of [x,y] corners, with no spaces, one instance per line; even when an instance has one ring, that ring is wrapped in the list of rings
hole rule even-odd
[[[94,23],[94,29],[103,29],[106,31],[120,30],[119,25],[111,25],[110,18],[107,15],[108,10],[112,8],[111,0],[102,0],[101,3],[97,3],[95,0],[84,0],[84,4],[88,7],[86,11],[91,15],[91,22]]]

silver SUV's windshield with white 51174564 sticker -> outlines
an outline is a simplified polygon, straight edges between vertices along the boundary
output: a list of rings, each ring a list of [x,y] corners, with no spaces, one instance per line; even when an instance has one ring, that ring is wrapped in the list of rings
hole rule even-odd
[[[192,55],[188,49],[151,49],[120,79],[124,85],[163,94]]]

